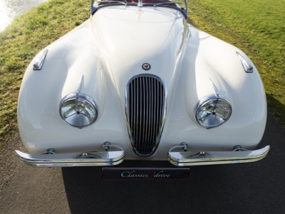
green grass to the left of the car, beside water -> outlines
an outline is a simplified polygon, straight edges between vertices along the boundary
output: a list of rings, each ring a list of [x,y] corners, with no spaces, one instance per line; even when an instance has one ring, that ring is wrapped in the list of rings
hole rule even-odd
[[[17,100],[28,63],[89,16],[89,0],[49,0],[0,32],[0,151],[18,131]]]

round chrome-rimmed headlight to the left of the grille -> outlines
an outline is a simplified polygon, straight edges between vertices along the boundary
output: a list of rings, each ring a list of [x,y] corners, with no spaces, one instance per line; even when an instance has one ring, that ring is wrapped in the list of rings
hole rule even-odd
[[[63,121],[71,126],[83,128],[90,126],[97,119],[97,107],[90,96],[71,93],[60,103],[59,113]]]

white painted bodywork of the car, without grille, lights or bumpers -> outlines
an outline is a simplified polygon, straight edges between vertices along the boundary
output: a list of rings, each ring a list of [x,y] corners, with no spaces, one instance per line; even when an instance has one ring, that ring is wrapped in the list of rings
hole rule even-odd
[[[31,61],[19,94],[19,131],[31,154],[102,151],[109,141],[123,148],[126,159],[167,160],[170,148],[182,142],[193,151],[232,151],[261,141],[266,96],[257,68],[246,73],[236,53],[247,58],[242,51],[187,24],[176,9],[105,6],[46,49],[43,68],[33,71]],[[143,71],[142,63],[151,69]],[[125,117],[125,87],[140,73],[159,76],[167,90],[162,138],[148,158],[133,153]],[[82,76],[81,93],[98,105],[98,118],[78,129],[61,119],[58,108]],[[214,93],[229,100],[232,116],[206,129],[195,119],[195,106]]]

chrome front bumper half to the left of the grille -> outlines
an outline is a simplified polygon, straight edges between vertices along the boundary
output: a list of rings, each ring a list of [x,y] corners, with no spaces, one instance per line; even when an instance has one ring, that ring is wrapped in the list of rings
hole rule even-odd
[[[88,153],[59,153],[31,155],[16,151],[21,163],[36,166],[88,166],[117,165],[125,158],[125,151],[105,151]]]

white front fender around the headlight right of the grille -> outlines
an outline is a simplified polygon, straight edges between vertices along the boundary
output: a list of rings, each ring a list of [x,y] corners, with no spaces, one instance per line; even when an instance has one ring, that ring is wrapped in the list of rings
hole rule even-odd
[[[230,150],[237,145],[254,148],[263,136],[267,115],[264,86],[257,68],[252,63],[254,71],[246,73],[237,56],[239,52],[247,58],[242,51],[189,28],[191,36],[162,140],[186,142],[200,150]],[[197,123],[195,107],[199,100],[214,93],[229,100],[232,116],[222,126],[206,129]]]

